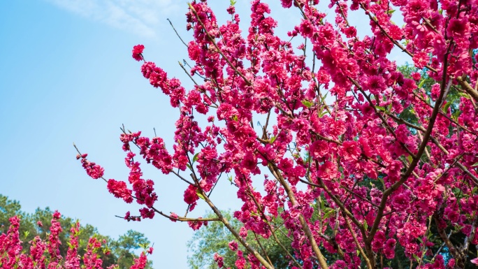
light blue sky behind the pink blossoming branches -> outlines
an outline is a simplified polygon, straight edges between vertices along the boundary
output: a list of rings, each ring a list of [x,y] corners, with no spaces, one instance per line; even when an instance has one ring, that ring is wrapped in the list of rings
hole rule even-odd
[[[247,31],[249,1],[237,2]],[[280,10],[278,0],[266,2],[280,18],[278,31],[286,38],[299,20],[298,10]],[[219,22],[229,19],[229,1],[210,3]],[[154,242],[154,268],[187,268],[186,242],[192,236],[187,224],[160,216],[140,223],[114,217],[126,211],[138,215],[138,207],[114,198],[102,180],[87,177],[73,148],[75,142],[105,168],[106,178],[117,180],[128,175],[119,141],[122,124],[150,137],[155,128],[171,148],[178,110],[143,78],[131,49],[145,45],[145,58],[188,89],[191,83],[178,65],[187,59],[187,50],[166,20],[190,41],[186,10],[186,1],[173,0],[0,1],[0,194],[20,201],[27,212],[49,206],[113,238],[129,229],[143,232]],[[359,34],[369,29],[363,16],[352,17],[351,23],[358,25]],[[400,64],[410,61],[396,55]],[[183,215],[187,186],[145,165],[143,169],[156,184],[157,208]],[[211,198],[222,209],[237,209],[235,191],[228,185],[222,180]],[[205,210],[200,206],[189,216]]]

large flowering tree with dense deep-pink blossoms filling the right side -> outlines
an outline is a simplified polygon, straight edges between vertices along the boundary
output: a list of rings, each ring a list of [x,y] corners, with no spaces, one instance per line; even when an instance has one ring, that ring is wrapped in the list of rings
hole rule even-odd
[[[123,129],[129,184],[106,180],[108,190],[144,205],[124,218],[161,215],[194,229],[220,221],[235,238],[229,247],[237,268],[274,268],[258,238],[280,245],[291,268],[384,268],[397,249],[400,267],[477,263],[478,1],[332,0],[333,23],[318,0],[281,2],[302,16],[287,41],[259,0],[245,35],[233,1],[224,25],[206,1],[190,3],[189,90],[145,61],[143,45],[133,48],[144,77],[180,117],[172,152],[162,138]],[[360,38],[349,24],[355,10],[370,22],[370,36]],[[403,27],[391,20],[396,10]],[[393,48],[423,72],[400,73],[387,58]],[[429,91],[424,80],[433,81]],[[208,122],[200,126],[195,114]],[[146,163],[185,184],[188,211],[204,202],[215,217],[162,212],[136,147]],[[77,157],[88,175],[103,177],[86,154]],[[242,201],[233,214],[239,228],[210,198],[225,174]],[[254,189],[258,182],[262,189]],[[292,252],[277,233],[291,240]],[[220,254],[214,259],[223,266]]]

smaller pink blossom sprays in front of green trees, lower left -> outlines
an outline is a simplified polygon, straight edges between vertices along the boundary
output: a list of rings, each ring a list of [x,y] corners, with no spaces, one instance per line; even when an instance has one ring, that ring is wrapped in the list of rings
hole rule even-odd
[[[100,240],[98,236],[92,236],[87,242],[85,253],[80,256],[78,254],[80,246],[80,223],[77,221],[69,231],[69,240],[66,242],[68,250],[66,255],[61,255],[61,233],[63,228],[60,224],[61,215],[55,211],[52,215],[50,233],[46,238],[42,239],[39,235],[29,242],[29,252],[23,249],[20,240],[20,218],[18,216],[10,217],[10,227],[6,233],[0,234],[0,268],[2,269],[100,269],[103,260],[101,252],[104,255],[110,254],[110,249],[105,247],[106,240]],[[38,221],[38,226],[43,226]],[[151,254],[152,247],[147,249],[147,253]],[[131,269],[145,269],[147,266],[146,252],[140,254],[134,259]],[[108,269],[119,269],[117,264],[108,266]]]

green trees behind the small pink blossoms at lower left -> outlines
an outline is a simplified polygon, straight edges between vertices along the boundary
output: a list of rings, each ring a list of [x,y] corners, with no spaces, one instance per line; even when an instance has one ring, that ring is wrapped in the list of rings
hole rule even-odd
[[[54,221],[51,221],[52,216]],[[98,258],[103,261],[101,265],[103,267],[117,265],[117,269],[126,269],[133,265],[135,259],[138,259],[135,250],[147,248],[150,245],[150,241],[145,238],[143,233],[137,231],[129,230],[124,235],[119,235],[115,240],[109,236],[101,235],[98,229],[92,225],[78,226],[78,221],[64,216],[57,219],[58,216],[58,213],[53,212],[50,208],[37,208],[34,213],[24,212],[18,201],[10,200],[7,196],[0,194],[0,246],[5,246],[3,240],[12,238],[12,228],[17,228],[15,234],[17,233],[19,238],[15,242],[20,242],[21,245],[15,246],[15,249],[22,249],[20,253],[24,254],[23,257],[27,257],[31,254],[31,251],[35,251],[35,247],[31,245],[32,242],[38,244],[39,239],[42,239],[43,242],[48,241],[49,235],[52,234],[52,225],[54,225],[56,227],[54,231],[58,233],[55,239],[59,241],[57,254],[60,256],[66,257],[68,251],[76,243],[78,243],[75,246],[78,249],[77,254],[85,256],[88,242],[90,238],[94,237],[98,242],[101,242],[101,249],[96,252],[99,254]],[[11,221],[13,219],[11,217],[16,217],[15,220],[21,219],[18,226],[12,227]],[[62,228],[59,229],[57,226]],[[78,236],[74,242],[70,242],[71,233],[73,233],[71,227],[74,227],[75,231],[78,230]],[[3,234],[5,237],[2,237]],[[4,251],[7,252],[8,249],[0,247],[0,257],[2,258],[6,258],[6,256],[3,256],[6,254]],[[85,265],[82,259],[80,259],[79,264]],[[0,268],[3,268],[1,263]],[[152,269],[152,261],[147,261],[145,269]]]

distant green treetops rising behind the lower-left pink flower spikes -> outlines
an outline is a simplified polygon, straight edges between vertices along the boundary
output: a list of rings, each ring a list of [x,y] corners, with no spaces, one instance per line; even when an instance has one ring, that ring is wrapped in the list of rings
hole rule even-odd
[[[50,208],[37,208],[33,214],[23,212],[18,201],[9,200],[7,196],[0,194],[0,234],[6,233],[10,222],[8,219],[15,215],[21,219],[20,224],[20,240],[22,240],[23,249],[29,252],[29,241],[33,240],[36,235],[40,238],[48,238],[50,233],[51,219],[53,211]],[[42,226],[37,225],[37,221],[41,221]],[[59,239],[61,245],[59,246],[61,256],[66,256],[68,252],[68,238],[70,236],[70,228],[76,223],[76,220],[70,217],[62,216],[59,220],[63,232],[60,233]],[[83,256],[89,238],[95,236],[99,240],[106,240],[106,249],[110,250],[110,254],[106,255],[99,252],[99,256],[103,260],[103,267],[108,267],[117,264],[119,269],[130,268],[133,264],[133,259],[138,258],[135,254],[136,250],[142,250],[143,247],[150,245],[150,241],[145,238],[143,233],[137,231],[127,231],[124,235],[120,235],[117,240],[106,235],[101,235],[98,229],[92,225],[86,224],[81,226],[80,234],[78,235],[78,254]],[[105,249],[105,250],[106,250]],[[147,269],[152,269],[152,261],[147,261]]]

